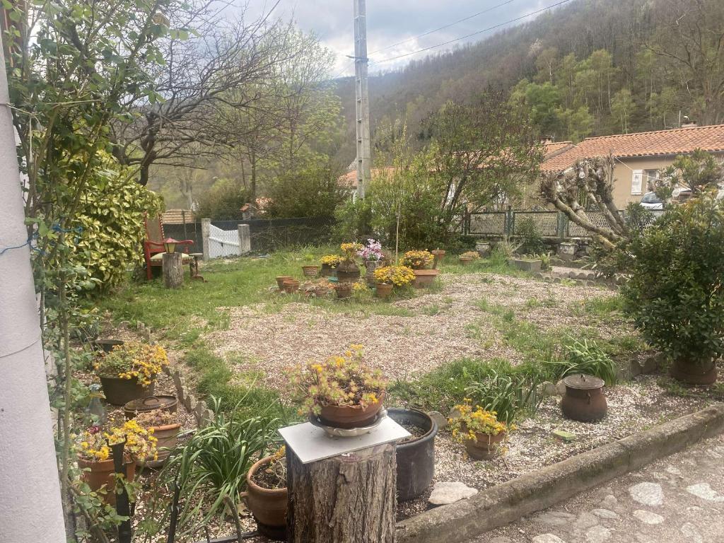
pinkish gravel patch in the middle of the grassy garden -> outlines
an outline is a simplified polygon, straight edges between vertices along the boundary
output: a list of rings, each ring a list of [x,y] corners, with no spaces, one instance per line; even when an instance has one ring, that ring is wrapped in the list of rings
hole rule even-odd
[[[395,302],[410,316],[326,311],[306,303],[289,303],[279,313],[264,306],[229,308],[229,329],[207,334],[216,354],[226,356],[238,371],[266,372],[266,384],[282,394],[285,369],[312,359],[327,358],[350,343],[365,347],[366,358],[390,379],[408,379],[442,363],[463,357],[482,360],[500,357],[515,363],[519,357],[502,342],[489,313],[476,305],[516,311],[543,329],[560,326],[591,327],[586,316],[576,316],[571,305],[589,298],[613,295],[610,290],[589,286],[552,285],[532,279],[494,274],[442,275],[440,292],[426,293]],[[605,336],[626,333],[612,326]]]

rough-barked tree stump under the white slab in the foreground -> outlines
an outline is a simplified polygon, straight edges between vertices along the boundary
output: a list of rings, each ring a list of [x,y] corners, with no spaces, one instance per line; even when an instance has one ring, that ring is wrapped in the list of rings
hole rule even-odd
[[[395,445],[303,464],[287,447],[288,541],[393,543]]]

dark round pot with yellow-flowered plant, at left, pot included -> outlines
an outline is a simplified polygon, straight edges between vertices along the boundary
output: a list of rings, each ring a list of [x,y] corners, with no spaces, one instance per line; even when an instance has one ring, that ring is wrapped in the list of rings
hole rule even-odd
[[[156,375],[168,363],[161,345],[130,341],[101,355],[93,367],[101,379],[106,400],[113,405],[124,405],[136,398],[153,395]]]

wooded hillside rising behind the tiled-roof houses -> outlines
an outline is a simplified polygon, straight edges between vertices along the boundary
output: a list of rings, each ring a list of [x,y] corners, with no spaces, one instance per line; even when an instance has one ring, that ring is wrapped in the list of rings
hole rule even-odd
[[[373,66],[374,68],[374,66]],[[369,80],[373,140],[408,131],[446,101],[492,86],[529,109],[539,135],[581,140],[676,127],[679,116],[724,122],[724,2],[578,0],[458,50]],[[337,84],[354,158],[353,78]]]

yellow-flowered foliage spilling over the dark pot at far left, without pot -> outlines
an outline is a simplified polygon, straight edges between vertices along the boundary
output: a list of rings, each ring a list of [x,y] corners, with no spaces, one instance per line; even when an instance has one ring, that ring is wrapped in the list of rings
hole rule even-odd
[[[160,345],[129,341],[102,355],[93,367],[101,377],[135,379],[148,387],[168,363],[166,350]]]

